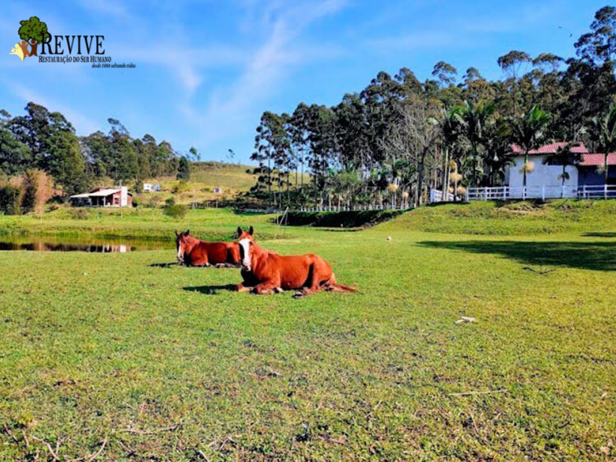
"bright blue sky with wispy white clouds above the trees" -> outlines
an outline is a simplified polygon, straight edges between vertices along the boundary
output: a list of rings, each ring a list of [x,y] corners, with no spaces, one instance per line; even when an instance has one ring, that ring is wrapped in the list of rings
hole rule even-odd
[[[594,0],[11,1],[2,5],[0,108],[23,113],[32,100],[64,113],[79,135],[119,119],[206,160],[231,148],[247,161],[265,110],[298,102],[333,105],[378,71],[401,67],[420,79],[445,60],[459,74],[501,75],[511,49],[573,54]],[[106,54],[135,69],[22,63],[10,48],[19,21],[37,15],[54,35],[103,34]]]

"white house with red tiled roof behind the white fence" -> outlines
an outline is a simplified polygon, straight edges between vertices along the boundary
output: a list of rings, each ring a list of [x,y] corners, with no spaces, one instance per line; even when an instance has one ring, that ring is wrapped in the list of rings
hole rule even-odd
[[[569,174],[562,182],[562,164],[547,161],[548,156],[556,154],[567,145],[565,142],[546,144],[529,152],[529,163],[532,171],[526,174],[526,189],[524,190],[524,152],[517,145],[512,145],[511,160],[505,172],[505,184],[509,187],[508,197],[554,198],[578,197],[585,190],[594,191],[604,185],[602,167],[605,162],[603,154],[589,153],[583,143],[571,148],[572,152],[582,155],[582,161],[577,165],[565,167]],[[609,155],[608,185],[616,185],[616,153]],[[610,190],[612,187],[610,187]],[[610,194],[611,195],[611,194]]]

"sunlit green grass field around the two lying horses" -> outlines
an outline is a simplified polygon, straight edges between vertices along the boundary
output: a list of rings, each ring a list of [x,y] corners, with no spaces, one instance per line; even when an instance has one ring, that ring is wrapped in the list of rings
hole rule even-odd
[[[173,250],[0,252],[0,460],[614,460],[615,207],[437,206],[359,232],[0,217],[5,235],[254,223],[360,288],[235,293],[237,269],[153,265]]]

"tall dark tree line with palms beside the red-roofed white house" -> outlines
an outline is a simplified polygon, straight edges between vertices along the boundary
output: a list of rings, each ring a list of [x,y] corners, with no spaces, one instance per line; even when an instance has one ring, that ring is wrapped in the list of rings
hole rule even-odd
[[[503,184],[511,144],[528,155],[551,140],[570,142],[563,162],[573,161],[576,142],[616,151],[614,7],[596,12],[575,50],[569,58],[511,51],[498,58],[503,77],[495,80],[474,67],[460,75],[444,61],[425,81],[408,68],[382,71],[332,107],[265,111],[253,194],[280,207],[419,205],[430,187],[463,195]],[[527,156],[524,177],[532,167]]]

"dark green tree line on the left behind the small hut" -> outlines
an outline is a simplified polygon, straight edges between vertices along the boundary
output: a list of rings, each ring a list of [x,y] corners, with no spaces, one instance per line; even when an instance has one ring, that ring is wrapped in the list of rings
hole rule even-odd
[[[146,134],[131,136],[120,121],[110,118],[110,131],[78,137],[60,112],[30,102],[25,115],[0,110],[0,180],[36,169],[51,177],[63,197],[93,185],[177,176],[188,179],[190,163],[169,142]],[[195,152],[191,148],[191,153]]]

